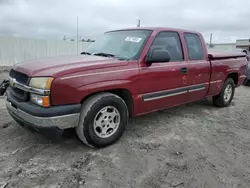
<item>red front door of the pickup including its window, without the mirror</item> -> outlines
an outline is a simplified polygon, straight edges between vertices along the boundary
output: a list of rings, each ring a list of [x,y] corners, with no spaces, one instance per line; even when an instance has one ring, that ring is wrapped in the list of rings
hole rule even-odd
[[[150,50],[167,50],[169,62],[153,62],[140,69],[142,113],[183,104],[187,101],[187,64],[178,32],[159,32]]]

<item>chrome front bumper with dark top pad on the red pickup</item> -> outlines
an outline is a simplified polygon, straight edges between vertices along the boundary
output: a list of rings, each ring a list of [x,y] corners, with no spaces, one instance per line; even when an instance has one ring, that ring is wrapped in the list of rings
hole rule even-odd
[[[78,125],[81,105],[43,108],[30,102],[18,102],[7,90],[6,107],[16,120],[36,128],[67,129]]]

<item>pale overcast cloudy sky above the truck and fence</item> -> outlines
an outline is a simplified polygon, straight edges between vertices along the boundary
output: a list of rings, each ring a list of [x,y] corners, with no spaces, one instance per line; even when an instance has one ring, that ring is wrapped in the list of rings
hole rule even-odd
[[[208,40],[249,38],[248,0],[0,0],[0,35],[39,38],[95,36],[106,30],[166,26],[200,31]]]

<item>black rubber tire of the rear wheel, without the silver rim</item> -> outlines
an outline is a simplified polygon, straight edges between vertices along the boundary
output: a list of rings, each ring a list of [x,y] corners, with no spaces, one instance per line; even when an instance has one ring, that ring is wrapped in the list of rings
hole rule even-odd
[[[224,99],[225,95],[225,89],[228,85],[232,86],[232,94],[229,100]],[[228,78],[225,82],[224,85],[222,86],[222,89],[219,93],[219,95],[213,97],[213,104],[218,107],[226,107],[229,106],[234,98],[234,93],[235,93],[235,83],[232,78]]]

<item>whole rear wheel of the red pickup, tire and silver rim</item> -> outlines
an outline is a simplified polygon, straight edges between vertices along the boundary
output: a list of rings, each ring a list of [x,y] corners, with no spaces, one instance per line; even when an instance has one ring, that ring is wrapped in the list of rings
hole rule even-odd
[[[219,95],[213,97],[214,105],[219,107],[226,107],[230,105],[230,103],[233,100],[234,93],[235,93],[235,83],[232,78],[228,78],[224,82],[224,85],[222,86]]]

